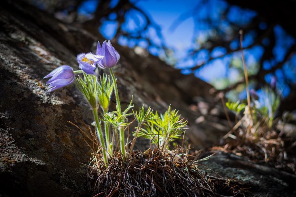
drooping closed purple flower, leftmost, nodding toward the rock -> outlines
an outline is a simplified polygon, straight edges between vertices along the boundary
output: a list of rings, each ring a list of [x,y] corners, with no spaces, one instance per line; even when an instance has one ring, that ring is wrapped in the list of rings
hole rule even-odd
[[[49,88],[49,92],[58,89],[60,87],[64,87],[66,85],[71,84],[75,80],[74,71],[70,66],[63,65],[51,71],[48,75],[46,75],[43,79],[52,77],[46,83]]]

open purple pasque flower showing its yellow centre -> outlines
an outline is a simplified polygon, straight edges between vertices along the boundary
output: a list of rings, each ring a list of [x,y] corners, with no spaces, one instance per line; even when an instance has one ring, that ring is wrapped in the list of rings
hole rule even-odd
[[[96,64],[103,56],[94,55],[92,53],[81,53],[77,55],[77,61],[79,63],[79,68],[83,70],[86,74],[96,74],[94,69],[96,69]]]

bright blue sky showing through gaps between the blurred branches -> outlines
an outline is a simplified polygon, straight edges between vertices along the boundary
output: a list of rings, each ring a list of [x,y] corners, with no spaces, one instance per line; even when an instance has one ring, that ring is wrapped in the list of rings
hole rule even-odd
[[[177,0],[131,0],[131,2],[135,3],[137,7],[146,12],[150,19],[152,19],[155,24],[157,24],[161,28],[161,34],[163,36],[163,41],[161,41],[154,29],[149,29],[148,32],[145,32],[145,36],[152,38],[155,43],[163,42],[168,48],[173,49],[174,58],[178,61],[176,63],[177,68],[184,69],[182,72],[184,74],[190,73],[189,70],[186,70],[186,67],[191,67],[196,64],[201,64],[202,62],[207,61],[209,57],[216,57],[223,55],[226,51],[225,48],[220,47],[216,48],[213,53],[208,54],[206,50],[198,51],[197,55],[194,58],[186,58],[188,57],[188,50],[192,48],[198,49],[200,44],[202,44],[206,39],[207,35],[213,33],[206,23],[202,22],[203,19],[210,19],[219,25],[222,31],[226,32],[231,31],[229,29],[229,21],[236,24],[247,24],[250,20],[256,16],[256,12],[240,9],[237,6],[231,6],[229,14],[226,16],[228,21],[221,22],[221,13],[226,8],[227,3],[223,0],[208,0],[206,1],[208,5],[205,6],[201,4],[203,1],[180,1]],[[110,4],[110,7],[116,5],[118,0],[113,0]],[[88,13],[94,12],[96,8],[96,0],[88,0],[85,1],[83,6],[81,6],[81,13],[87,11]],[[197,11],[198,9],[198,11]],[[210,13],[210,14],[209,14]],[[144,21],[137,13],[131,13],[130,18],[126,18],[129,22],[126,24],[126,27],[129,30],[133,30],[137,28],[137,25],[143,25]],[[195,19],[193,17],[196,17]],[[181,18],[181,22],[178,25],[174,25],[178,22],[178,19]],[[112,39],[114,37],[114,33],[117,27],[116,14],[110,14],[109,18],[103,23],[100,32],[106,37],[106,39]],[[198,21],[198,22],[196,22]],[[176,28],[173,28],[176,27]],[[260,24],[261,29],[266,28],[266,24]],[[276,26],[274,28],[275,35],[278,37],[276,48],[273,53],[275,56],[275,60],[271,62],[264,62],[263,66],[266,69],[272,68],[276,65],[276,61],[283,60],[284,52],[287,50],[287,46],[292,45],[295,42],[289,35],[284,34],[284,30],[280,26]],[[237,32],[238,33],[238,32]],[[284,35],[284,36],[282,36]],[[246,47],[254,42],[252,32],[244,35],[243,46]],[[281,38],[282,37],[282,38]],[[194,42],[194,39],[195,42]],[[129,47],[134,47],[135,45],[139,45],[141,47],[147,48],[154,55],[162,57],[162,51],[158,51],[155,48],[149,48],[147,42],[141,41],[137,42],[133,40],[128,40],[126,38],[120,38],[118,42],[122,45],[128,45]],[[263,40],[263,43],[268,45],[269,40]],[[231,42],[230,48],[235,49],[239,47],[239,43],[237,41]],[[248,65],[255,65],[256,61],[262,56],[263,48],[261,46],[255,46],[251,49],[245,50],[244,54],[246,56],[246,63]],[[218,58],[207,63],[201,69],[196,71],[194,74],[205,80],[206,82],[212,83],[217,88],[223,88],[223,86],[219,87],[220,81],[225,78],[229,79],[230,82],[235,82],[234,79],[237,80],[239,72],[234,69],[229,69],[227,65],[230,65],[230,61],[233,60],[233,57],[237,57],[237,59],[241,59],[241,54],[234,53],[231,56],[226,55],[223,58]],[[296,59],[296,58],[294,58]],[[295,63],[295,61],[294,61]],[[283,78],[287,77],[291,80],[295,81],[294,75],[296,71],[289,72],[291,69],[291,65],[287,65],[287,68],[284,72],[276,71],[276,76],[278,78],[279,86],[283,89],[284,95],[287,96],[289,94],[289,88],[284,85]],[[295,67],[295,66],[294,66]],[[293,68],[293,65],[292,65]],[[270,82],[272,75],[266,76],[266,81]],[[282,81],[281,81],[282,80]],[[244,97],[244,94],[242,94]]]

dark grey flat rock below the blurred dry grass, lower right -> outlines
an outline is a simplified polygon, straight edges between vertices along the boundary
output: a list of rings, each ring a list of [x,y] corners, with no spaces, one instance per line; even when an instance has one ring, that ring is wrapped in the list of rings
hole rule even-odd
[[[199,162],[215,171],[205,170],[208,175],[222,176],[226,179],[238,180],[246,183],[251,193],[245,193],[249,197],[280,197],[295,196],[296,175],[275,169],[264,164],[250,162],[244,156],[238,156],[231,152],[211,151],[210,159]],[[218,176],[219,174],[220,176]]]

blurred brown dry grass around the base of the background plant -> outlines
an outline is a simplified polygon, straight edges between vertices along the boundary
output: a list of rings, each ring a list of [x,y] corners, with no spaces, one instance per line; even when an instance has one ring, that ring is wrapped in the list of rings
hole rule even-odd
[[[264,132],[255,138],[246,138],[240,129],[235,139],[227,138],[223,141],[224,149],[243,155],[254,163],[296,174],[296,147],[293,136],[265,127],[261,128]]]

